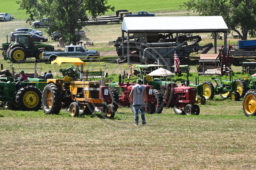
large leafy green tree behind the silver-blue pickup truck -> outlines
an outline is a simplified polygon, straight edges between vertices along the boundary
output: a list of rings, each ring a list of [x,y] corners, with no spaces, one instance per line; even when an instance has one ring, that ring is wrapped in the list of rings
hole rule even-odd
[[[76,44],[80,41],[75,31],[86,26],[88,15],[93,18],[114,10],[107,5],[107,0],[20,0],[20,10],[26,10],[29,18],[26,22],[47,17],[50,24],[47,33],[58,32],[68,44]]]

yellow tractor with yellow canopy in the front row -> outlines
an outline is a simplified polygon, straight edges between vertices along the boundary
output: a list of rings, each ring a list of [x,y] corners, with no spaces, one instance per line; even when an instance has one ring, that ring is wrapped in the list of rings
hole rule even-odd
[[[58,114],[61,108],[69,108],[72,116],[78,116],[79,110],[83,110],[84,114],[92,114],[95,107],[102,107],[106,116],[114,117],[117,109],[105,100],[109,98],[108,87],[101,87],[99,81],[88,81],[88,70],[86,80],[83,81],[83,61],[79,58],[57,57],[52,62],[54,63],[74,63],[75,66],[81,64],[80,80],[69,76],[63,79],[47,79],[42,93],[42,107],[46,114]]]

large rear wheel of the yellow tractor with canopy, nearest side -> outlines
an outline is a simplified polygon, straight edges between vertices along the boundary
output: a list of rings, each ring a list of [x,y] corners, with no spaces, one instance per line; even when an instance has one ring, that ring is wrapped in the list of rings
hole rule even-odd
[[[61,90],[53,83],[45,86],[42,93],[43,111],[49,114],[60,113],[61,105]]]

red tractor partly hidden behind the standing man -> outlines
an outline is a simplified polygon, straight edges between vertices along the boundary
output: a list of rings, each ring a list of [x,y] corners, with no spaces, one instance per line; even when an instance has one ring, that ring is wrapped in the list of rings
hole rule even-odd
[[[131,104],[129,102],[129,95],[130,95],[130,92],[132,91],[132,86],[134,86],[136,84],[130,83],[128,81],[126,83],[121,82],[121,80],[119,78],[118,85],[119,85],[120,91],[122,93],[122,95],[119,96],[120,105],[125,106],[125,107],[131,106]],[[163,106],[162,107],[159,107],[159,106],[161,105],[161,103],[163,101],[162,93],[159,92],[158,90],[155,90],[152,85],[143,85],[143,86],[146,87],[146,92],[147,92],[147,101],[148,101],[147,113],[148,114],[153,114],[154,112],[161,113]],[[111,91],[112,90],[110,90],[110,92]],[[116,96],[116,95],[113,95],[113,96]],[[116,106],[116,104],[117,104],[117,100],[115,100],[113,105]]]

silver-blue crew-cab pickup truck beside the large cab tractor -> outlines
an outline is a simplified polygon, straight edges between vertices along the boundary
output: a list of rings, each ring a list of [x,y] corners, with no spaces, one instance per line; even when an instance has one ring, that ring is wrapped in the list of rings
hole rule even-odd
[[[87,50],[79,45],[67,45],[64,52],[43,52],[42,59],[53,61],[57,57],[74,57],[83,60],[87,59],[88,56],[99,56],[99,52],[95,50]]]

